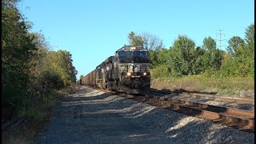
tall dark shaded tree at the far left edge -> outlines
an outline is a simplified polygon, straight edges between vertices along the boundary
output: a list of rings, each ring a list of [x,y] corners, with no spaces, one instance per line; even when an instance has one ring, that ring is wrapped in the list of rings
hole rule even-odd
[[[2,106],[11,111],[26,104],[30,82],[28,63],[37,50],[29,28],[17,9],[17,1],[2,0]]]

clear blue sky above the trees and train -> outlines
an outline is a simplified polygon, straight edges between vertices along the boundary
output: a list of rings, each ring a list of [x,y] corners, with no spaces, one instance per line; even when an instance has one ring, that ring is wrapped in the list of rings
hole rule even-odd
[[[70,51],[77,78],[128,44],[131,31],[154,34],[169,48],[178,34],[202,46],[222,29],[227,46],[233,36],[245,38],[254,24],[254,0],[22,0],[19,7],[51,50],[57,44]]]

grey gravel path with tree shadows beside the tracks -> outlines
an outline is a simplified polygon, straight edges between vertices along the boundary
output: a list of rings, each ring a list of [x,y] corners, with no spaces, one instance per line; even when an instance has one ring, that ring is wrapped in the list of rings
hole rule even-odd
[[[254,134],[82,86],[35,143],[254,143]]]

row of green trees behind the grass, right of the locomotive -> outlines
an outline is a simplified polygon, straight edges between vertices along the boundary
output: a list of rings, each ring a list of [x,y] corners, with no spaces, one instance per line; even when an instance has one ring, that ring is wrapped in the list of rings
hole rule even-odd
[[[178,35],[173,46],[164,48],[160,38],[143,33],[128,35],[130,45],[150,51],[151,74],[154,78],[202,74],[207,77],[254,77],[254,24],[248,26],[243,40],[230,38],[226,50],[220,50],[211,37],[196,44],[186,35]]]

